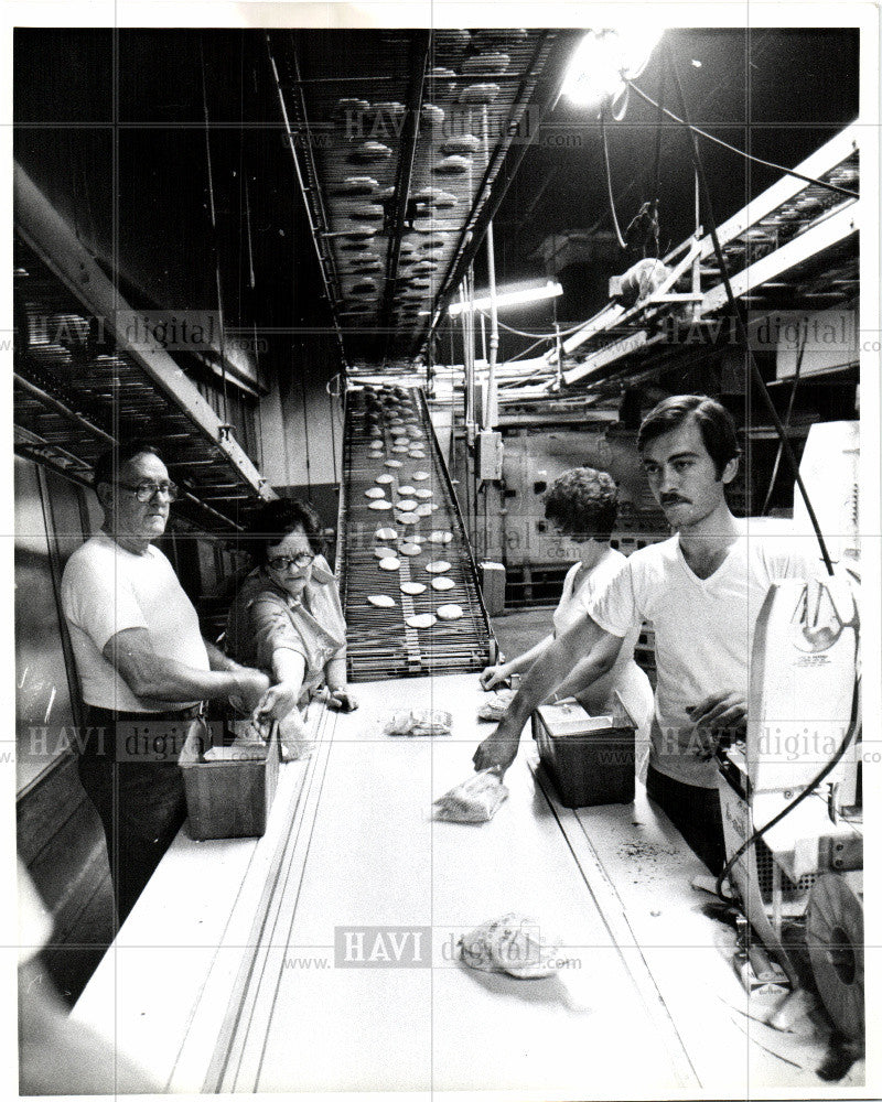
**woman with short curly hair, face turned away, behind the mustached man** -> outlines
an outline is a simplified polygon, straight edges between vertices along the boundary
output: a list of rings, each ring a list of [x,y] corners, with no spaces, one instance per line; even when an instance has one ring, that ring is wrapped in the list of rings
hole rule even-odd
[[[573,467],[555,479],[546,494],[546,519],[551,521],[561,536],[569,537],[580,545],[581,558],[563,579],[563,592],[551,617],[551,634],[517,658],[487,667],[481,674],[483,689],[496,688],[513,673],[526,673],[557,636],[585,615],[593,597],[619,573],[625,563],[625,557],[610,547],[616,511],[616,486],[604,472],[592,467]],[[648,678],[634,661],[634,645],[638,635],[639,629],[625,636],[613,668],[588,690],[579,692],[578,685],[564,684],[556,695],[576,695],[588,712],[598,715],[611,710],[614,704],[613,692],[617,691],[637,724],[638,733],[648,734],[653,691]]]

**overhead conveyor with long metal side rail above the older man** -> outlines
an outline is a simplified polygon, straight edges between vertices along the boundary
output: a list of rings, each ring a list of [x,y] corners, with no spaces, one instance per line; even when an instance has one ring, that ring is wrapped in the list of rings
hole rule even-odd
[[[233,532],[275,491],[170,353],[131,338],[135,312],[25,172],[15,169],[15,451],[90,483],[117,441],[162,441],[179,521]]]

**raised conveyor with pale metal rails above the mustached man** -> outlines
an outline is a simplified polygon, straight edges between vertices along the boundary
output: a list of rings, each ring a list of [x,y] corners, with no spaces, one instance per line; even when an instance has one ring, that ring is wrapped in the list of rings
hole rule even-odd
[[[732,293],[753,314],[848,309],[856,300],[860,199],[822,183],[859,190],[860,130],[846,127],[796,166],[821,183],[784,175],[718,227]],[[713,344],[727,295],[710,234],[699,229],[662,261],[667,278],[634,305],[611,301],[559,346],[501,364],[499,404],[582,402],[585,386],[603,392],[623,377],[634,382],[685,344]]]

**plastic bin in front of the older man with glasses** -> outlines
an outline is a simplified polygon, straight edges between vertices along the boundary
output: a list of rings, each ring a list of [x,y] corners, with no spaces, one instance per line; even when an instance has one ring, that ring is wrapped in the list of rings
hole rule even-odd
[[[203,720],[191,723],[178,759],[184,776],[190,836],[196,841],[260,838],[267,830],[279,779],[278,725],[273,724],[260,758],[201,760],[206,749],[222,743],[220,725]]]

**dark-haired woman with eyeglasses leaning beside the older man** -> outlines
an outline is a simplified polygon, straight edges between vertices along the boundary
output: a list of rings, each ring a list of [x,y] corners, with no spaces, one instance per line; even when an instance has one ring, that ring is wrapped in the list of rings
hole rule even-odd
[[[322,552],[321,525],[304,501],[270,501],[255,518],[249,550],[257,566],[227,619],[226,647],[237,661],[271,674],[258,715],[287,717],[322,685],[327,705],[357,706],[346,684],[346,622],[336,582]],[[302,730],[298,731],[304,737]]]

